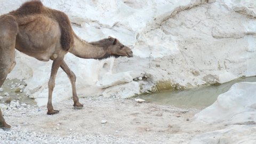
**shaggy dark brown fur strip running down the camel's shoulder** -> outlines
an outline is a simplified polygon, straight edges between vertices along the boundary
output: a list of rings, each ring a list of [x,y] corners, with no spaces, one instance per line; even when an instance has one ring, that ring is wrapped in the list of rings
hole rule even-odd
[[[61,11],[51,10],[52,17],[57,20],[61,30],[60,43],[63,50],[68,51],[74,44],[73,30],[68,15]]]

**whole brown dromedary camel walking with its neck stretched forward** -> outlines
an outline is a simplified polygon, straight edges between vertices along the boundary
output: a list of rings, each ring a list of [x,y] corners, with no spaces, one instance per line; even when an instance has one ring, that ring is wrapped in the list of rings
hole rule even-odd
[[[133,57],[131,49],[116,38],[109,37],[92,43],[80,39],[74,33],[65,13],[49,9],[40,1],[24,3],[18,10],[2,15],[0,24],[0,87],[15,66],[14,49],[41,61],[53,60],[48,83],[48,115],[59,112],[52,106],[52,92],[59,67],[70,79],[74,107],[83,107],[76,94],[76,76],[63,60],[67,52],[84,59]],[[1,109],[0,125],[10,128],[2,116]]]

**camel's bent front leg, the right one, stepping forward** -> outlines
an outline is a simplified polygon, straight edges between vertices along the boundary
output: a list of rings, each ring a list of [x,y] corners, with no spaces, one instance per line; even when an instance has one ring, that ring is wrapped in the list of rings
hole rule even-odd
[[[79,99],[76,93],[76,75],[73,73],[73,71],[70,70],[70,68],[67,66],[65,61],[62,61],[62,64],[60,65],[60,67],[65,71],[65,73],[68,75],[68,78],[70,80],[70,83],[72,86],[73,101],[74,101],[73,106],[77,109],[81,109],[83,105],[79,102]]]

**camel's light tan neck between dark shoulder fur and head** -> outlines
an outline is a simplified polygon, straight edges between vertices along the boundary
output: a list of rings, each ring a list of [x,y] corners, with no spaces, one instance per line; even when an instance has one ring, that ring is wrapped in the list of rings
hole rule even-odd
[[[70,53],[83,59],[104,59],[108,57],[108,51],[105,47],[95,46],[84,41],[74,33],[74,46],[69,50]]]

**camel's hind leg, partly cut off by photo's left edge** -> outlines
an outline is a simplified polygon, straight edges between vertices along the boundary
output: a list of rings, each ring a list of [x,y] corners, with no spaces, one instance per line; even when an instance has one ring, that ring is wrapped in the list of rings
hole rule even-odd
[[[0,17],[0,87],[3,85],[7,74],[15,66],[15,41],[18,33],[18,24],[11,15]],[[0,109],[0,128],[10,128],[5,122]]]

